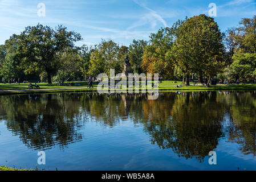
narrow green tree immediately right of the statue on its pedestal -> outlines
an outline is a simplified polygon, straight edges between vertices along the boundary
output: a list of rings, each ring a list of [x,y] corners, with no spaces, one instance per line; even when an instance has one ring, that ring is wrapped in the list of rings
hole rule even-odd
[[[142,57],[144,53],[144,48],[147,46],[148,42],[145,40],[133,40],[132,44],[129,46],[129,59],[132,65],[134,73],[142,73]]]

